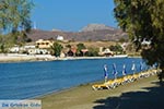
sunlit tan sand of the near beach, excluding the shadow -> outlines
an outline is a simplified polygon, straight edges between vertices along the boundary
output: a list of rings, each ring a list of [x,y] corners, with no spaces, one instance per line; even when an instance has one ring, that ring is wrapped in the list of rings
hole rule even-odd
[[[149,92],[147,88],[159,86],[157,84],[154,84],[157,82],[159,80],[156,75],[154,75],[121,85],[115,89],[93,90],[91,86],[95,83],[102,83],[101,81],[55,92],[37,97],[36,99],[42,100],[43,109],[97,109],[95,107],[99,106],[99,104],[96,102],[98,99],[121,97],[124,94],[131,92]],[[147,100],[149,101],[149,98]]]

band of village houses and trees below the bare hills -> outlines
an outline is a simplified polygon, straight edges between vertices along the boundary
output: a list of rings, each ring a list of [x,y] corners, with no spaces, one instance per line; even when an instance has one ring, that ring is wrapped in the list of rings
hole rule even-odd
[[[55,46],[59,47],[56,48]],[[62,36],[58,35],[56,40],[38,39],[33,43],[26,43],[24,46],[15,45],[9,48],[8,53],[51,55],[60,58],[66,58],[114,57],[116,55],[130,55],[129,51],[132,51],[132,46],[129,43],[68,41],[63,39]]]

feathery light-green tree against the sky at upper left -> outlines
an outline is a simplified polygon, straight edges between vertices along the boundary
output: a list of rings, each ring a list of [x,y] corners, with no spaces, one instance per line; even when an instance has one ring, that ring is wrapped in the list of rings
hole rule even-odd
[[[13,43],[25,41],[31,29],[31,0],[0,0],[0,34]]]

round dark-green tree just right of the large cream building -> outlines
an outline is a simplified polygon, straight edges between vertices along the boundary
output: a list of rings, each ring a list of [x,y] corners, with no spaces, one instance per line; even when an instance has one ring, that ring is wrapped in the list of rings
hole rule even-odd
[[[62,48],[63,47],[59,43],[54,43],[54,45],[51,46],[52,55],[59,57]]]

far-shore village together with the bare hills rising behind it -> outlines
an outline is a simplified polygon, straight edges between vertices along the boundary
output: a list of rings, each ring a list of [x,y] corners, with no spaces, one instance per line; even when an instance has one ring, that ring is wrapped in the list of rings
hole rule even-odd
[[[14,58],[28,56],[35,60],[140,56],[140,51],[136,52],[134,45],[127,38],[126,33],[120,29],[99,24],[87,25],[79,33],[54,29],[46,32],[35,28],[28,34],[28,41],[21,43],[21,45],[14,44],[8,48],[4,48],[1,44],[0,52],[1,56],[8,56],[7,58],[9,56],[14,56]],[[149,43],[143,41],[142,45],[143,47],[148,47]],[[4,58],[2,59],[4,60]]]

